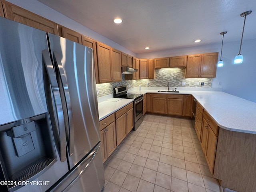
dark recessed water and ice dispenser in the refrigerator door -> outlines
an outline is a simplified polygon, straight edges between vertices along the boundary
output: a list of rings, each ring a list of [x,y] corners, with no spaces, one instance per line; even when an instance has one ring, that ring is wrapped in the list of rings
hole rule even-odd
[[[32,181],[56,162],[48,112],[1,125],[0,143],[0,180]]]

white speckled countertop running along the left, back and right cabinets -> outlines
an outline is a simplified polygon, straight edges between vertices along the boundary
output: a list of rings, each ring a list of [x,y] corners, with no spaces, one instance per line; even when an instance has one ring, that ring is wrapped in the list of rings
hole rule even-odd
[[[128,90],[128,93],[160,93],[158,90]],[[220,91],[179,90],[191,94],[210,114],[221,128],[237,132],[256,134],[256,103]],[[164,92],[160,94],[166,94]],[[133,100],[121,99],[117,102],[98,103],[100,120],[129,104]]]

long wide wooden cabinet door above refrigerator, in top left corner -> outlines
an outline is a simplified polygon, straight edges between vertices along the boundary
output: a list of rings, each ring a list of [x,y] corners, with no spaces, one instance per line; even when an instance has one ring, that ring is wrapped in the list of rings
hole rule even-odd
[[[6,18],[52,34],[59,35],[58,26],[56,23],[9,2],[2,1],[2,5],[4,16]]]

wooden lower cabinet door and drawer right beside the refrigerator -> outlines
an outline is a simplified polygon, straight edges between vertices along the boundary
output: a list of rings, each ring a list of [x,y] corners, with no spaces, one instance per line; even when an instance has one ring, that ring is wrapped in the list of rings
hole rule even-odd
[[[100,121],[100,140],[102,150],[103,162],[116,149],[116,124],[114,121],[114,114],[104,118]]]

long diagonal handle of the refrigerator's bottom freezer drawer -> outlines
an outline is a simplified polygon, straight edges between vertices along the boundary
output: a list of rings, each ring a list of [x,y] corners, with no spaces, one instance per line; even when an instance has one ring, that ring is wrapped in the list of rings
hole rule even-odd
[[[75,166],[69,174],[60,182],[56,183],[52,186],[47,192],[67,192],[70,188],[78,181],[78,179],[82,176],[86,168],[90,165],[94,157],[96,156],[98,150],[100,149],[100,142],[98,145],[86,156],[82,159],[77,166]]]

